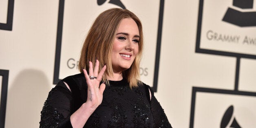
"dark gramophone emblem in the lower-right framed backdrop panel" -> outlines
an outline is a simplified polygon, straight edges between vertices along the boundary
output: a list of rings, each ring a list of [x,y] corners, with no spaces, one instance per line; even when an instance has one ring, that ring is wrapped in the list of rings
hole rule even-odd
[[[236,118],[233,116],[234,107],[231,105],[227,108],[221,120],[221,128],[241,128],[241,126],[236,121]],[[230,122],[232,123],[230,124]],[[230,124],[230,126],[227,126]]]

